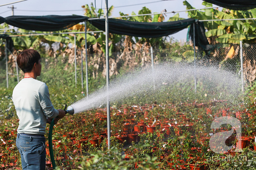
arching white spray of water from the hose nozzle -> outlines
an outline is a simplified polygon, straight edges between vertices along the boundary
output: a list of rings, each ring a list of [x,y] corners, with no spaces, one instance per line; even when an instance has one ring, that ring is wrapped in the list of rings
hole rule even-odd
[[[197,92],[194,92],[195,78]],[[170,95],[181,97],[188,92],[197,96],[212,95],[216,99],[228,99],[235,103],[239,102],[237,96],[241,94],[241,83],[235,74],[214,67],[165,64],[156,66],[154,71],[149,68],[122,76],[110,82],[108,92],[104,87],[90,94],[88,99],[85,97],[71,106],[78,113],[106,105],[107,97],[113,103],[145,94],[175,98],[175,95]]]

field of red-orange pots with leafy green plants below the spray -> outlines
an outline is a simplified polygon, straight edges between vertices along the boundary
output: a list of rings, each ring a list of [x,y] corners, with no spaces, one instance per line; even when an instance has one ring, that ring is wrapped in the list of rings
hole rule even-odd
[[[10,97],[5,96],[1,104],[9,100]],[[228,106],[225,100],[114,105],[109,150],[106,108],[67,115],[53,129],[56,165],[59,169],[253,169],[256,167],[255,105]],[[9,113],[1,116],[2,169],[21,169],[15,146],[19,119],[13,109],[9,108]],[[225,139],[227,146],[233,146],[227,153],[216,154],[211,150],[211,135],[232,129],[228,124],[211,129],[211,122],[221,116],[241,121],[242,150],[239,152],[234,152],[238,145],[236,133]],[[49,125],[46,132],[48,128]],[[45,137],[46,168],[50,170],[48,133]]]

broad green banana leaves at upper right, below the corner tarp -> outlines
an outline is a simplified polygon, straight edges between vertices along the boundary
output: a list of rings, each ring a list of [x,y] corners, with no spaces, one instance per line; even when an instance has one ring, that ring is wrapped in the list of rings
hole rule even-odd
[[[187,9],[194,9],[187,1],[183,2]],[[203,2],[205,7],[212,7],[212,4]],[[219,9],[204,9],[204,11],[188,11],[190,18],[198,20],[216,20],[204,22],[206,29],[206,36],[211,38],[212,43],[239,43],[241,40],[244,43],[256,42],[256,21],[255,20],[232,20],[238,18],[255,18],[256,9],[248,11],[235,11],[223,8]],[[226,20],[231,19],[231,20]]]

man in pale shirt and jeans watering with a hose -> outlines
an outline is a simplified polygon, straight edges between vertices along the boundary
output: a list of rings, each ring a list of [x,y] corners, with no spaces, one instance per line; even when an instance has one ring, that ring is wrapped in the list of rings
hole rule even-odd
[[[42,68],[41,56],[37,51],[23,50],[17,56],[17,64],[24,72],[24,78],[13,89],[12,100],[19,117],[16,146],[22,169],[45,170],[46,123],[55,118],[56,124],[65,116],[65,111],[54,109],[47,85],[36,80]]]

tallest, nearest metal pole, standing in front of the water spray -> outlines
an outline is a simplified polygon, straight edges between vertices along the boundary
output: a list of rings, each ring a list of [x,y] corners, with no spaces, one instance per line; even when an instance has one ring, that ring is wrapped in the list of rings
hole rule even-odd
[[[108,52],[108,0],[105,0],[105,11],[106,11],[106,19],[105,19],[105,31],[106,31],[106,80],[107,80],[107,124],[108,124],[108,148],[110,148],[110,136],[111,136],[111,129],[110,129],[110,107],[109,107],[109,52]]]

